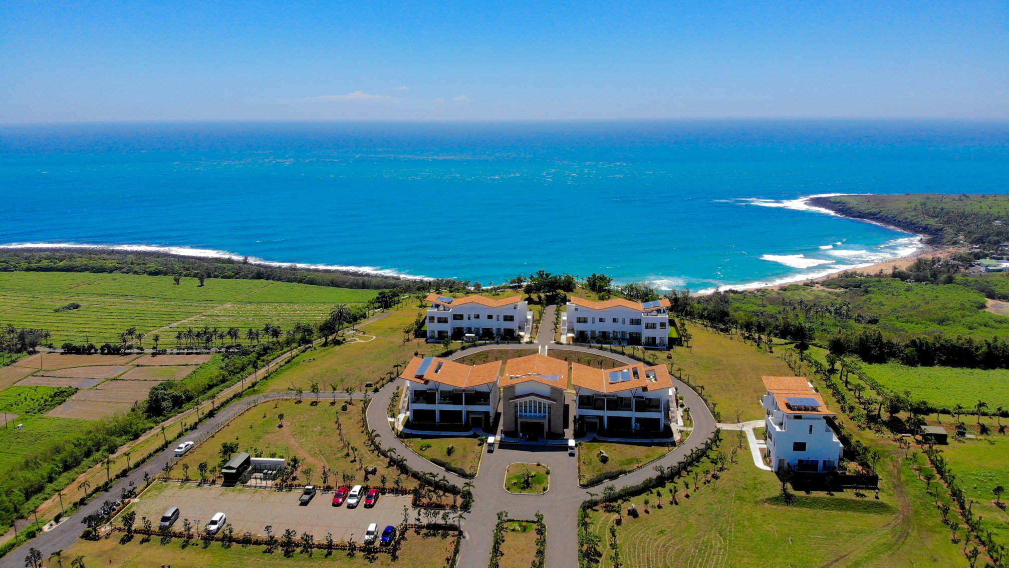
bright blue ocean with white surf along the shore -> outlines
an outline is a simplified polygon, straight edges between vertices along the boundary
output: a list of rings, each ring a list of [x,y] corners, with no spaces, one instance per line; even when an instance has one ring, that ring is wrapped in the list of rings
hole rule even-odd
[[[0,244],[130,245],[499,283],[709,290],[914,252],[824,193],[1009,191],[1009,124],[0,127]]]

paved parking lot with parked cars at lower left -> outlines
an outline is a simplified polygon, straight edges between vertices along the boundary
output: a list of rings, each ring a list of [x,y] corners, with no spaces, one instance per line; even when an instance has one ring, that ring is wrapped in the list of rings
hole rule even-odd
[[[361,542],[364,530],[370,523],[378,525],[379,531],[386,525],[397,526],[402,523],[404,506],[410,510],[410,522],[414,521],[415,513],[409,495],[383,494],[371,509],[364,508],[363,500],[362,505],[356,509],[347,509],[346,505],[333,507],[332,491],[319,491],[307,506],[299,505],[299,495],[301,490],[276,491],[157,482],[125,512],[136,512],[136,526],[139,527],[140,519],[146,517],[156,529],[161,514],[170,507],[178,507],[179,521],[173,529],[182,531],[183,519],[193,522],[195,530],[197,520],[202,528],[220,511],[228,516],[228,523],[234,527],[236,538],[245,531],[265,536],[263,529],[270,525],[274,536],[293,529],[299,536],[308,533],[320,542],[325,540],[326,533],[332,533],[333,540],[337,542],[345,541],[351,536],[355,541]]]

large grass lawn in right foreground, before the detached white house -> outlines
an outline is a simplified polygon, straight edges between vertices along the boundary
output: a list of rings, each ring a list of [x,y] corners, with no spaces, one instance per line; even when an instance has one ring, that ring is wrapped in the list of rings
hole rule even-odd
[[[591,511],[589,530],[601,539],[604,553],[600,566],[613,566],[609,527],[619,515],[620,558],[627,568],[968,566],[934,508],[921,499],[923,486],[895,483],[887,474],[879,502],[846,491],[799,494],[796,505],[786,507],[775,505],[780,485],[772,472],[755,468],[746,455],[738,461],[719,478],[700,480],[697,489],[688,476],[632,499],[638,518],[627,515],[629,504],[620,513]],[[706,462],[700,467],[714,469]],[[690,483],[689,496],[684,482]]]

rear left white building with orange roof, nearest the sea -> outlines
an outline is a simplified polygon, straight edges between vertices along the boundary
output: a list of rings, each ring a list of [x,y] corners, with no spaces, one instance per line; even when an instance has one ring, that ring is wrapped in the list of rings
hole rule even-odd
[[[533,329],[533,312],[521,295],[488,298],[472,295],[456,298],[431,294],[427,312],[429,341],[445,338],[524,339]]]

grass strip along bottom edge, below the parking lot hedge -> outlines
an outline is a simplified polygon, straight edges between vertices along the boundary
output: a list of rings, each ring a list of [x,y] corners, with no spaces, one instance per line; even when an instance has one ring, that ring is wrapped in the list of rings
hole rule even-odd
[[[388,554],[377,554],[374,558],[358,552],[349,557],[344,551],[335,551],[327,556],[325,551],[316,550],[311,555],[296,552],[286,558],[277,548],[272,553],[263,552],[262,546],[243,547],[232,545],[224,548],[221,543],[212,543],[206,547],[194,539],[185,546],[183,539],[174,539],[171,543],[160,544],[159,538],[142,542],[140,535],[126,544],[119,544],[122,533],[114,533],[112,538],[99,541],[79,540],[73,548],[64,551],[64,566],[70,566],[70,559],[84,556],[85,566],[128,566],[131,568],[159,568],[162,565],[173,566],[215,566],[219,568],[244,568],[247,566],[262,566],[263,568],[297,566],[335,566],[337,568],[364,568],[368,566],[403,566],[410,568],[443,568],[451,560],[455,548],[455,537],[442,535],[424,536],[408,532],[400,551],[400,558],[394,562]],[[47,554],[46,554],[47,556]],[[54,561],[48,565],[55,566]]]

